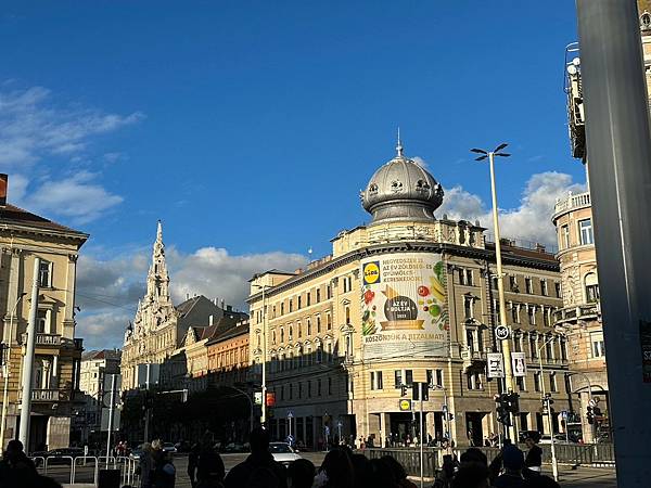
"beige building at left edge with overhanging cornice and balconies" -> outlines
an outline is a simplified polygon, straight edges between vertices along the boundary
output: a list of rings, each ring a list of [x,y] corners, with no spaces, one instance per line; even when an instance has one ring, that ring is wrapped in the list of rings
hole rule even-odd
[[[34,259],[39,257],[28,449],[69,445],[82,350],[81,339],[75,338],[77,257],[87,239],[88,234],[8,204],[7,175],[0,176],[0,308],[2,342],[10,347],[5,442],[18,435],[23,347],[31,307]]]

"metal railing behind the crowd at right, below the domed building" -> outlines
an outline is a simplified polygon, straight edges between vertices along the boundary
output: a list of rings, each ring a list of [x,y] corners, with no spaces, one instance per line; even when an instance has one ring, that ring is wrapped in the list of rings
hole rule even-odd
[[[551,462],[551,446],[549,444],[539,445],[542,449],[542,462]],[[519,446],[526,452],[526,446]],[[612,444],[556,444],[557,460],[561,464],[589,465],[592,467],[608,467],[615,464],[615,450]],[[494,447],[477,447],[490,463],[500,452]],[[452,452],[460,459],[465,448],[454,449]],[[369,459],[379,459],[383,455],[392,455],[396,459],[410,476],[420,475],[420,451],[418,448],[391,448],[391,449],[365,449],[362,451]],[[434,477],[436,472],[443,465],[443,455],[447,451],[441,448],[423,449],[423,474],[426,477]]]

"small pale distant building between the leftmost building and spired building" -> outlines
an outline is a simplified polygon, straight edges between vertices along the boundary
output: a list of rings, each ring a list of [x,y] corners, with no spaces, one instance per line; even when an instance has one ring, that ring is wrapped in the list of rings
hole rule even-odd
[[[79,441],[88,444],[93,433],[100,433],[104,397],[104,375],[119,374],[120,351],[117,349],[89,350],[81,355],[79,390],[84,406],[73,429],[79,433]]]

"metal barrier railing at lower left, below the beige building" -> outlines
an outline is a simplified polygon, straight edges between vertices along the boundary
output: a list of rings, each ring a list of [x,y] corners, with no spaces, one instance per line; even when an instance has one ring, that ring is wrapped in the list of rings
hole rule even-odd
[[[119,470],[123,485],[136,485],[138,461],[127,457],[105,455],[69,455],[34,457],[30,458],[40,474],[55,478],[60,483],[92,483],[98,484],[100,470]]]

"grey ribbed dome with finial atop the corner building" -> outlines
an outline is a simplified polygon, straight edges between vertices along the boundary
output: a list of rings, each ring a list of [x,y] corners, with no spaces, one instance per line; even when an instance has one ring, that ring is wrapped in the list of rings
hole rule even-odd
[[[373,216],[371,223],[436,220],[434,210],[443,203],[443,188],[413,159],[398,154],[383,165],[360,194],[363,208]]]

